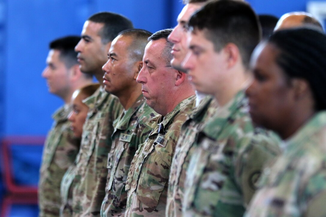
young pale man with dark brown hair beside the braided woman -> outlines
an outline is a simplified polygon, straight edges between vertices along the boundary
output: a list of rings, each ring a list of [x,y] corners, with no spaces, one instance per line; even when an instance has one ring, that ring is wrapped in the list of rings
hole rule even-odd
[[[263,166],[279,153],[278,137],[255,128],[244,88],[259,43],[257,15],[243,1],[211,1],[188,23],[182,64],[197,91],[218,108],[192,145],[184,184],[184,216],[243,216]]]

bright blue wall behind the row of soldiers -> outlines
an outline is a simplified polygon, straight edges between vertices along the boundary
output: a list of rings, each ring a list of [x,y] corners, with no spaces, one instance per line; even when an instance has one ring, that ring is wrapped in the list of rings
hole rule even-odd
[[[257,13],[305,10],[306,0],[249,0]],[[173,27],[181,0],[0,0],[0,135],[45,135],[62,101],[48,93],[41,72],[48,43],[80,35],[84,21],[98,11],[130,18],[136,28],[155,32]]]

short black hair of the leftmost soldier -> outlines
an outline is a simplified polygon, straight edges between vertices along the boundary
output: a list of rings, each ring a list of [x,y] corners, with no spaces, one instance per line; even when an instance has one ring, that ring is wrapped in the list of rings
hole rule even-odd
[[[49,49],[60,51],[59,59],[64,62],[66,68],[71,68],[78,64],[75,46],[80,40],[80,36],[66,36],[57,38],[50,42]]]

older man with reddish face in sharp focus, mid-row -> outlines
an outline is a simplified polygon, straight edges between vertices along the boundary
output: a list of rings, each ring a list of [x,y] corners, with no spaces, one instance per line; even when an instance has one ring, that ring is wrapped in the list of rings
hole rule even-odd
[[[166,29],[149,37],[137,77],[146,103],[159,115],[147,123],[152,131],[131,162],[125,216],[165,215],[175,145],[195,100],[188,76],[170,65],[170,33],[171,29]]]

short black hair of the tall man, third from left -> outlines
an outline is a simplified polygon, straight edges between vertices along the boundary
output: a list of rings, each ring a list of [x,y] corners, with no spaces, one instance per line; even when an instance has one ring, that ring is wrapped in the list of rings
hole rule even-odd
[[[132,22],[125,16],[112,12],[99,12],[88,18],[88,21],[103,23],[99,32],[102,44],[112,41],[121,31],[134,28]]]

